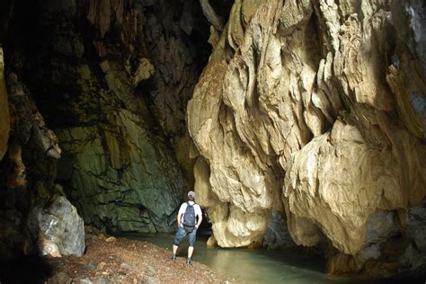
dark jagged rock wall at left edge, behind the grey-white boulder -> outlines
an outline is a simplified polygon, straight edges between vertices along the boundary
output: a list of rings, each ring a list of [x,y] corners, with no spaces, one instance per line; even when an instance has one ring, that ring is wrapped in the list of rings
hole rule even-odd
[[[31,94],[16,74],[6,80],[11,131],[0,164],[0,251],[2,258],[37,252],[39,227],[27,220],[35,203],[57,191],[58,138],[47,128]]]

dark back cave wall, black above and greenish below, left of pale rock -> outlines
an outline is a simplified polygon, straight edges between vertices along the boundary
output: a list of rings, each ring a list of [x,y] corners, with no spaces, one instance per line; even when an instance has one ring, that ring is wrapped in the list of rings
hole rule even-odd
[[[198,2],[10,3],[8,72],[58,136],[56,182],[85,223],[173,231],[193,184],[186,103],[209,55]]]

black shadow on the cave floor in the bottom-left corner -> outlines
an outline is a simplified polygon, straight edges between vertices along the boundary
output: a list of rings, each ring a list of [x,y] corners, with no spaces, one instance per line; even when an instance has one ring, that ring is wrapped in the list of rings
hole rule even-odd
[[[40,257],[0,260],[0,283],[43,283],[52,269]]]

